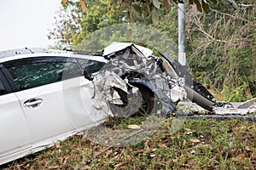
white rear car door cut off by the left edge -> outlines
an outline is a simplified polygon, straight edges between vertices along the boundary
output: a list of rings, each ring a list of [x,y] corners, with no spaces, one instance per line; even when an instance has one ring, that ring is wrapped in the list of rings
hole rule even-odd
[[[26,116],[0,68],[0,164],[12,154],[31,147]]]

